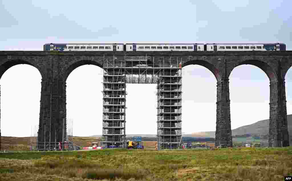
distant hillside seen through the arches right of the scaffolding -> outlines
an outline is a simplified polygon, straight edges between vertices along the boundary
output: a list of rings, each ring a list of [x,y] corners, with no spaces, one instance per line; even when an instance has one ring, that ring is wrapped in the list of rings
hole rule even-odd
[[[290,138],[292,138],[292,114],[287,115],[288,130]],[[232,122],[231,122],[232,123]],[[241,126],[232,130],[232,135],[244,135],[244,134],[269,134],[269,119],[258,121],[256,123]],[[192,133],[194,137],[211,137],[215,138],[215,131]]]

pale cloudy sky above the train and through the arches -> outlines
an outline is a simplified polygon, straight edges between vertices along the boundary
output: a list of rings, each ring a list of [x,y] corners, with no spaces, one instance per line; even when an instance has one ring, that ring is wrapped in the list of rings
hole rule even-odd
[[[291,1],[0,1],[0,51],[42,51],[45,43],[274,43],[292,50]],[[4,18],[3,18],[4,17]],[[230,75],[232,129],[269,119],[269,79],[241,65]],[[286,74],[292,114],[292,71]],[[83,65],[67,79],[73,135],[102,133],[102,69]],[[41,75],[15,65],[0,79],[1,135],[30,136],[39,124]],[[127,84],[126,134],[157,133],[155,84]],[[137,102],[139,100],[139,102]],[[216,79],[183,67],[183,133],[214,131]]]

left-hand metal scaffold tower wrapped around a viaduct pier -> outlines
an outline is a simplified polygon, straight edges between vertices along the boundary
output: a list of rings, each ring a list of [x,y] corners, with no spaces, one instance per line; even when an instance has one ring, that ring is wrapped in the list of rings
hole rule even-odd
[[[102,146],[125,147],[126,74],[122,63],[103,60]]]

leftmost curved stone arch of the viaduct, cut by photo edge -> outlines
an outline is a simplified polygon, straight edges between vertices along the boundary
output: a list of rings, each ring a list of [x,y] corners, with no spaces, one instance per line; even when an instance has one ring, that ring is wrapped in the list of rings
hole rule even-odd
[[[1,65],[0,65],[0,79],[2,77],[2,75],[6,72],[6,70],[8,70],[9,68],[13,67],[14,65],[20,65],[20,64],[26,64],[26,65],[31,65],[33,67],[35,67],[36,69],[39,70],[39,73],[41,74],[41,78],[44,78],[44,72],[41,70],[41,68],[37,65],[35,65],[32,60],[21,60],[21,59],[17,59],[17,60],[6,60],[4,61]]]

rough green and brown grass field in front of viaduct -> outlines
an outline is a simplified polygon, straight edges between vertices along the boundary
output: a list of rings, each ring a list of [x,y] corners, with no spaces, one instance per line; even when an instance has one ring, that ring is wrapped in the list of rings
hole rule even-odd
[[[283,180],[292,147],[0,153],[0,180]]]

